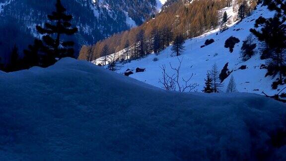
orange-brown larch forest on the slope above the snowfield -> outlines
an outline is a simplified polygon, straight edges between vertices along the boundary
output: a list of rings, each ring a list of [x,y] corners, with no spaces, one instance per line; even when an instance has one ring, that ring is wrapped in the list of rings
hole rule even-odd
[[[235,11],[244,0],[237,0],[233,5]],[[249,7],[253,9],[257,0],[250,0]],[[145,41],[145,53],[153,52],[150,47],[154,35],[162,39],[160,49],[169,46],[175,35],[183,35],[184,39],[196,37],[220,25],[219,9],[229,7],[232,0],[173,0],[167,1],[163,10],[143,25],[114,34],[98,41],[96,44],[82,46],[78,59],[92,61],[104,55],[121,51],[127,47],[137,46],[140,37]],[[108,53],[103,52],[104,47]],[[134,49],[134,48],[133,48]],[[104,54],[103,54],[104,53]]]

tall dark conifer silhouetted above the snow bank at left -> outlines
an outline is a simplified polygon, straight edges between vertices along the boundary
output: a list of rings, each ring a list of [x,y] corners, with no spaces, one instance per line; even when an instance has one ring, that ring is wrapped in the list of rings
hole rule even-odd
[[[43,53],[47,57],[51,57],[55,63],[56,58],[73,57],[74,50],[73,41],[62,40],[63,35],[73,35],[77,32],[77,28],[71,27],[72,15],[67,15],[66,8],[62,5],[61,0],[57,0],[56,11],[48,15],[49,22],[46,22],[44,27],[36,26],[37,31],[43,34],[43,42],[45,48]]]

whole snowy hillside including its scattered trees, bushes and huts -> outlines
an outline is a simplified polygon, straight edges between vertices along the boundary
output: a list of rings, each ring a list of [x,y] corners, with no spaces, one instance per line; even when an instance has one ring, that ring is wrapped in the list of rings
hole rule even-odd
[[[188,38],[186,33],[170,34],[170,46],[163,47],[162,40],[166,42],[168,38],[160,38],[157,27],[149,39],[142,39],[141,30],[135,45],[125,45],[125,49],[117,53],[111,48],[109,51],[114,54],[92,63],[103,66],[104,62],[107,66],[111,63],[116,66],[112,69],[117,73],[167,90],[197,83],[199,85],[193,91],[283,93],[286,87],[284,5],[279,4],[282,7],[277,8],[277,2],[269,4],[265,0],[263,5],[252,9],[250,1],[242,1],[236,13],[234,5],[231,3],[220,9],[222,16],[218,26],[198,37]],[[111,39],[106,41],[112,42]],[[92,50],[90,47],[85,49]],[[144,69],[143,73],[136,72],[139,67]],[[175,79],[177,75],[180,77]]]

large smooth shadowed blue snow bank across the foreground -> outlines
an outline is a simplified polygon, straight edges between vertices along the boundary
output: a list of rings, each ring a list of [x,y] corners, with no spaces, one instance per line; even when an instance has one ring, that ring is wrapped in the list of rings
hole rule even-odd
[[[0,73],[0,160],[283,160],[286,107],[248,94],[177,93],[91,63]]]

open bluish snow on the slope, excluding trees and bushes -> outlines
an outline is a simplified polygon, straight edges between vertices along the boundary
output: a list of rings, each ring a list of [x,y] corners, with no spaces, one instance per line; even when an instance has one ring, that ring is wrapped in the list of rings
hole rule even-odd
[[[224,8],[224,10],[231,13],[231,8],[232,7]],[[260,69],[261,65],[265,64],[266,61],[260,59],[258,47],[256,48],[256,55],[250,60],[243,62],[240,57],[242,43],[246,37],[250,35],[249,29],[254,27],[255,20],[259,16],[272,17],[273,15],[274,12],[269,11],[265,6],[258,6],[251,16],[239,23],[233,22],[229,26],[229,29],[222,33],[216,29],[200,37],[186,40],[184,44],[185,51],[178,57],[182,59],[181,76],[183,78],[189,78],[194,74],[191,81],[199,83],[199,86],[195,90],[202,91],[205,85],[204,79],[206,78],[207,72],[212,70],[212,66],[216,64],[218,72],[220,73],[224,65],[228,63],[228,69],[229,71],[233,71],[231,75],[234,76],[238,91],[258,94],[261,94],[262,91],[269,94],[278,93],[278,90],[284,86],[280,86],[278,90],[272,90],[271,84],[276,78],[265,77],[267,70]],[[233,53],[230,53],[228,48],[224,48],[225,40],[230,36],[234,36],[240,40],[240,42],[235,45]],[[201,48],[207,39],[214,39],[214,43]],[[120,55],[121,53],[122,52],[116,54]],[[119,70],[116,72],[123,74],[127,69],[135,70],[138,67],[145,68],[146,72],[134,72],[135,74],[130,77],[157,87],[162,87],[162,84],[158,82],[159,79],[162,79],[162,65],[166,65],[170,74],[172,71],[169,67],[169,63],[174,67],[178,66],[179,61],[177,57],[173,55],[170,46],[161,51],[158,56],[151,54],[146,58],[119,65]],[[155,57],[158,59],[156,62],[152,61]],[[93,63],[98,64],[101,62],[102,58],[99,58]],[[246,66],[246,69],[239,69],[241,66]],[[226,90],[229,79],[230,77],[223,81],[224,86],[221,88],[222,91]]]

